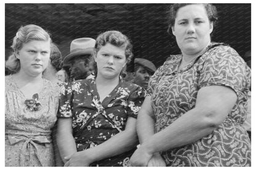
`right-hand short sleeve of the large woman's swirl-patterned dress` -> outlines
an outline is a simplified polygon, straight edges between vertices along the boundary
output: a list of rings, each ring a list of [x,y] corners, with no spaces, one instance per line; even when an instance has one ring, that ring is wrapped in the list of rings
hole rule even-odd
[[[199,66],[199,87],[223,85],[232,88],[237,95],[250,85],[250,68],[241,56],[229,46],[210,50]]]

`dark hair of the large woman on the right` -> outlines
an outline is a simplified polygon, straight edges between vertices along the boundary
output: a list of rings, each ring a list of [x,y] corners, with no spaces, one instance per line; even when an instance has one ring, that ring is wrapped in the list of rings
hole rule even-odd
[[[167,32],[170,35],[172,35],[172,26],[174,26],[178,9],[180,9],[181,7],[191,5],[191,4],[172,4],[172,5],[170,5],[169,11],[168,11],[168,29],[167,29]],[[202,5],[206,9],[209,21],[212,21],[214,23],[214,26],[216,26],[217,20],[218,20],[216,7],[212,4],[202,4]]]

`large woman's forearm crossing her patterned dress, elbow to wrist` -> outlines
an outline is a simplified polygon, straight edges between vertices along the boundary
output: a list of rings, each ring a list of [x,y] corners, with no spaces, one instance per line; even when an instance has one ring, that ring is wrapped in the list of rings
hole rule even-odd
[[[170,124],[166,129],[154,134],[143,143],[150,153],[190,144],[210,134],[216,126],[207,122],[207,118],[192,109]]]

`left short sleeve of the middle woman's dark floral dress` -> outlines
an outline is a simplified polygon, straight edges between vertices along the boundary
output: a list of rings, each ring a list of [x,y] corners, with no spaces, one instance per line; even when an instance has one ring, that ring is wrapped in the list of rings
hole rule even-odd
[[[73,91],[72,91],[73,82],[66,83],[60,88],[60,97],[57,117],[72,117],[71,112],[71,101],[73,100]]]

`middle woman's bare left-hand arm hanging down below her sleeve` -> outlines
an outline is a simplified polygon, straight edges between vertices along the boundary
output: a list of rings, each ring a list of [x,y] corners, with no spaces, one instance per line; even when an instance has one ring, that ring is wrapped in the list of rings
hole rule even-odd
[[[58,118],[57,124],[57,145],[62,161],[66,163],[65,156],[77,152],[72,130],[72,118]]]

